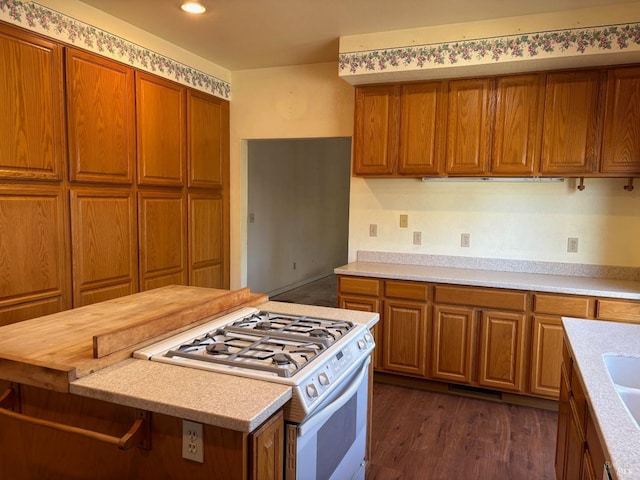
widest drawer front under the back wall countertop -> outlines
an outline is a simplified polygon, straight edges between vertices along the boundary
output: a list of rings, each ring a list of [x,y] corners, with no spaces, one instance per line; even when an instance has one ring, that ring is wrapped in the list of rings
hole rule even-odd
[[[436,285],[435,303],[469,305],[473,307],[502,308],[523,312],[527,308],[527,293],[490,288],[454,287]]]

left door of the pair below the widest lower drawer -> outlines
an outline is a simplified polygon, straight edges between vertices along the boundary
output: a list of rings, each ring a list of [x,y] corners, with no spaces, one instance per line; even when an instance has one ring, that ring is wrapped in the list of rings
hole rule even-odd
[[[433,306],[431,376],[471,383],[476,355],[476,313],[473,308]]]

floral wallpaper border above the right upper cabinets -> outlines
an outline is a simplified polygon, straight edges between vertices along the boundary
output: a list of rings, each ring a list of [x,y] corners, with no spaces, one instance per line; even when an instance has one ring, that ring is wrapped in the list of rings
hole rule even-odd
[[[640,23],[524,33],[339,54],[340,75],[582,55],[638,48]]]

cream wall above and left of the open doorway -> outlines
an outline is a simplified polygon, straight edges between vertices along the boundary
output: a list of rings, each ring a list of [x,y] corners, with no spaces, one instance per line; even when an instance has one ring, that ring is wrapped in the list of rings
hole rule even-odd
[[[233,72],[231,288],[247,285],[248,139],[350,137],[354,89],[337,63]]]

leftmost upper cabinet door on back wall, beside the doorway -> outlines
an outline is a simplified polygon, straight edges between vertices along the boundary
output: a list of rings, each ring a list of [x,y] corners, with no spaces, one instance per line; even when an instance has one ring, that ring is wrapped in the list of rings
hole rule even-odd
[[[356,88],[353,174],[391,175],[398,157],[398,87]]]

